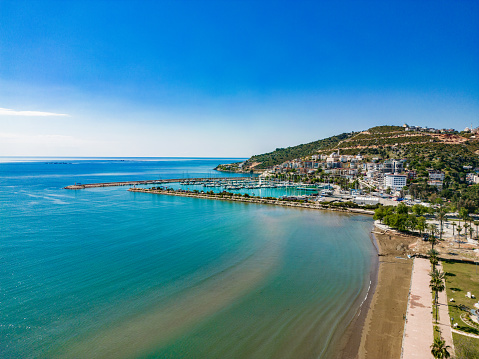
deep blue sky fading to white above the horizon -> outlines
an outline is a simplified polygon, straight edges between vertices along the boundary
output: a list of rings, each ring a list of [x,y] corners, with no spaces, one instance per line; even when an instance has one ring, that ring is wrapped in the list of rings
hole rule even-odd
[[[0,156],[249,157],[479,126],[477,1],[0,0]]]

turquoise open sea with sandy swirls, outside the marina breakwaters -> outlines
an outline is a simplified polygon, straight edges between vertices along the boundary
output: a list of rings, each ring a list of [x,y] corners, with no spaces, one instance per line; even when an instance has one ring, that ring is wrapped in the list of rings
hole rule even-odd
[[[371,217],[63,189],[240,160],[0,157],[0,357],[333,357],[370,295]]]

